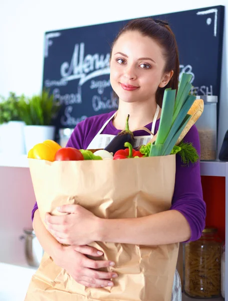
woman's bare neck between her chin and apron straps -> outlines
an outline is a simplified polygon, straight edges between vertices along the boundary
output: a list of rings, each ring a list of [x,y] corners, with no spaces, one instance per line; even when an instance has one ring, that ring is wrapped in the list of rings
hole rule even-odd
[[[123,102],[119,101],[119,108],[115,118],[112,120],[113,125],[117,129],[124,129],[126,124],[126,118],[129,114],[129,128],[135,130],[136,128],[145,126],[153,121],[157,104],[153,102]],[[158,118],[160,118],[160,112]]]

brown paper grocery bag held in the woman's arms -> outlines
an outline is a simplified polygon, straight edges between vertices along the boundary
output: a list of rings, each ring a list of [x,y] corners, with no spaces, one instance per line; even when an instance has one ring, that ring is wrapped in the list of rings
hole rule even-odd
[[[46,212],[57,214],[56,207],[64,204],[80,204],[109,219],[143,217],[171,206],[175,155],[52,163],[29,159],[29,165],[43,222]],[[45,253],[26,301],[170,301],[178,243],[90,245],[104,252],[99,260],[115,262],[105,269],[118,273],[113,287],[85,287]]]

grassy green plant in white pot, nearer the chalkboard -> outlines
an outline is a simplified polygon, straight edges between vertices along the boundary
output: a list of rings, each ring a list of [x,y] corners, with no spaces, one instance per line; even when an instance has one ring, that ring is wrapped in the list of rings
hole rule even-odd
[[[21,118],[25,121],[26,153],[37,143],[44,140],[54,140],[54,117],[60,109],[60,103],[54,99],[53,94],[43,90],[41,94],[19,99]]]

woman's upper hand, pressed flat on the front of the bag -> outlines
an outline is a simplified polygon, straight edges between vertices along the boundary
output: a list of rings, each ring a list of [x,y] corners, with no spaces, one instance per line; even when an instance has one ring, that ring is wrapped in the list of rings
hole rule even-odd
[[[52,216],[46,213],[48,230],[62,244],[87,245],[98,241],[99,218],[80,205],[64,205],[58,211],[70,213]]]

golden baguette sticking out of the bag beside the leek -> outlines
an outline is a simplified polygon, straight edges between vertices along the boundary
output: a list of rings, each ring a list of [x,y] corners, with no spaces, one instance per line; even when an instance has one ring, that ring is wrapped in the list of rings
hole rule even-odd
[[[179,145],[180,141],[187,134],[192,125],[198,120],[203,112],[204,103],[202,99],[196,99],[192,106],[190,107],[188,114],[191,115],[191,118],[188,120],[188,123],[182,130],[178,140],[176,141],[176,145]]]

